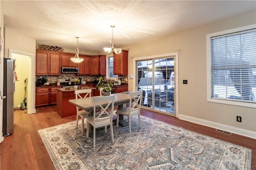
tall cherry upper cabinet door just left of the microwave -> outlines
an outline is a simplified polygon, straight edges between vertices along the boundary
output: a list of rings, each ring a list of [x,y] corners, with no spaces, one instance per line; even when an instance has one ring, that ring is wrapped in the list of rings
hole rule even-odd
[[[49,53],[49,75],[60,75],[60,53]]]

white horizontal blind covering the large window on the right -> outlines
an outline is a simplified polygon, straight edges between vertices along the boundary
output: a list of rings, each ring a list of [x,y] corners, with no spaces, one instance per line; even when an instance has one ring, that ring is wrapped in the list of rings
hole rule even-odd
[[[256,29],[210,41],[211,97],[256,103]]]

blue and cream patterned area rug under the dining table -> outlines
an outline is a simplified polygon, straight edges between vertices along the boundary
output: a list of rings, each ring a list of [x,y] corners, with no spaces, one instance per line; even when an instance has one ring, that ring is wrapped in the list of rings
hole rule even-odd
[[[114,126],[92,138],[81,135],[81,121],[38,130],[57,170],[249,170],[251,150],[141,116],[129,127]],[[86,126],[85,126],[86,127]]]

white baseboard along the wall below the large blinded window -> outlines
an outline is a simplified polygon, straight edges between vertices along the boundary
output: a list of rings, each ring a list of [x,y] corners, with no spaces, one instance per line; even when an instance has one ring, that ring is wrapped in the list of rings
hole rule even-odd
[[[204,119],[198,119],[195,117],[190,117],[190,116],[186,116],[186,115],[179,115],[179,119],[184,120],[184,121],[189,121],[192,123],[196,123],[199,125],[204,125],[207,127],[212,127],[212,128],[217,128],[220,130],[225,130],[228,132],[232,132],[235,134],[239,134],[242,136],[246,136],[249,138],[254,138],[256,139],[256,132],[250,131],[250,130],[245,130],[242,128],[237,128],[237,127],[232,127],[232,126],[228,126],[228,125],[224,125],[224,124],[220,124],[220,123],[216,123],[216,122],[212,122],[212,121],[206,121]]]

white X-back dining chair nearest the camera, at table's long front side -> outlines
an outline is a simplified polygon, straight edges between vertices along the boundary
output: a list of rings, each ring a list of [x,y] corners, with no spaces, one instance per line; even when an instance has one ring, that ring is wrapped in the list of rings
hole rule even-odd
[[[95,129],[98,127],[105,127],[105,133],[107,131],[106,126],[110,125],[110,132],[111,132],[111,139],[112,142],[114,142],[114,133],[113,133],[113,111],[114,111],[114,99],[115,95],[110,96],[95,96],[92,97],[92,101],[94,103],[93,107],[93,116],[87,117],[87,129],[89,129],[89,125],[93,126],[93,148],[95,148]],[[106,105],[106,102],[108,104]],[[102,103],[105,103],[102,106]],[[98,112],[98,106],[100,107],[100,113],[99,115],[96,115],[96,112]],[[111,109],[109,109],[111,107]],[[89,136],[89,130],[86,130],[86,137]]]

